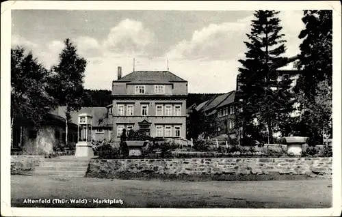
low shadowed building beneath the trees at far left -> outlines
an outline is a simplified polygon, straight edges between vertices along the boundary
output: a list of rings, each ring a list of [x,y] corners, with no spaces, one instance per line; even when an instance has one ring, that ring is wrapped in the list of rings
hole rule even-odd
[[[66,129],[65,119],[50,113],[42,120],[39,127],[31,121],[14,120],[12,126],[11,152],[23,154],[49,154],[56,147],[73,149],[77,143],[77,125],[70,123],[68,129],[68,147],[65,147]]]

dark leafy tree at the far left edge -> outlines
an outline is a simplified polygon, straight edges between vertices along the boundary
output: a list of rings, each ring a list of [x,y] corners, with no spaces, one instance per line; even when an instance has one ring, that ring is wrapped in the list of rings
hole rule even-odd
[[[14,120],[30,121],[37,128],[57,104],[49,95],[49,71],[23,47],[11,49],[11,129]]]

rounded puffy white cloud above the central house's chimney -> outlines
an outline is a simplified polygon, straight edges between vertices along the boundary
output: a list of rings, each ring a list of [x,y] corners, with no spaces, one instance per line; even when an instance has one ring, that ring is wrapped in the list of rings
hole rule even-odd
[[[125,19],[110,30],[103,46],[111,53],[146,53],[154,38],[154,33],[141,22]]]

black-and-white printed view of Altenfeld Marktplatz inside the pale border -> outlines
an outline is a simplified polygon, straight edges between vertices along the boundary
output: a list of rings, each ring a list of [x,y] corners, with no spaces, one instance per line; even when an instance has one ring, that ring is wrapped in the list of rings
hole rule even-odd
[[[339,10],[11,9],[10,207],[332,208]]]

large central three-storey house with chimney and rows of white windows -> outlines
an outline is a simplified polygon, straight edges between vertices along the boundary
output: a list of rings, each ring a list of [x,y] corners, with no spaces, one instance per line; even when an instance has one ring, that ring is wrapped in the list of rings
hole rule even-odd
[[[113,128],[117,141],[123,129],[153,137],[185,139],[187,81],[169,71],[133,71],[113,81]]]

